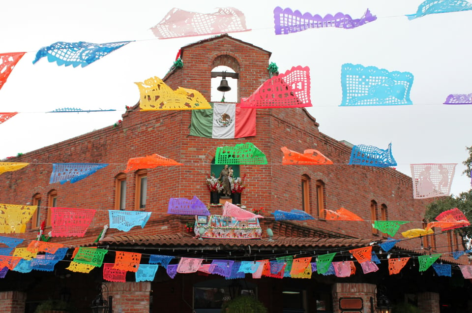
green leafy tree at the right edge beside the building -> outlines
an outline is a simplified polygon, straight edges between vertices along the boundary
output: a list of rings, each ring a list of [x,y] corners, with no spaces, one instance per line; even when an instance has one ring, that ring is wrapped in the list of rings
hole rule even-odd
[[[466,147],[469,151],[469,157],[467,160],[462,162],[466,166],[466,169],[462,172],[466,174],[468,177],[471,177],[471,170],[472,170],[472,146]],[[472,189],[467,192],[461,192],[458,196],[447,196],[441,197],[438,200],[431,202],[426,209],[425,219],[428,221],[433,221],[435,218],[440,215],[442,212],[458,208],[461,210],[466,218],[471,221],[472,220]],[[455,229],[455,231],[462,237],[462,245],[465,250],[470,249],[468,248],[467,244],[470,243],[470,239],[472,238],[472,226],[468,227],[461,227]]]

